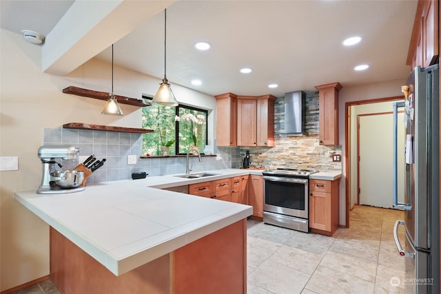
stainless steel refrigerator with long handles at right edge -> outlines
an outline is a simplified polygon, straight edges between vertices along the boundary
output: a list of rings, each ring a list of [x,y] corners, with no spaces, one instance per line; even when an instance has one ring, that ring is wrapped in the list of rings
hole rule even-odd
[[[404,123],[407,134],[405,162],[397,164],[405,165],[406,175],[404,203],[394,195],[394,205],[404,209],[404,220],[397,220],[393,235],[406,260],[405,293],[440,293],[439,72],[438,64],[415,67],[408,89],[403,88],[407,98],[399,105],[404,122],[398,123]],[[400,226],[404,240],[398,237]]]

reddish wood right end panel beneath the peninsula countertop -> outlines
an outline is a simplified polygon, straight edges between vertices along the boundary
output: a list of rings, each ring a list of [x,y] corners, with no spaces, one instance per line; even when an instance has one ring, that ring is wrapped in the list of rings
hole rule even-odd
[[[176,249],[172,273],[176,294],[247,293],[247,221]]]

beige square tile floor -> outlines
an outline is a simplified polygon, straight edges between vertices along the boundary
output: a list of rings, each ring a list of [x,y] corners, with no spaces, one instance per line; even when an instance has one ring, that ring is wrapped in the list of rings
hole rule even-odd
[[[402,211],[357,206],[350,218],[333,237],[249,220],[248,294],[404,293],[390,282],[404,277],[392,234]],[[14,294],[49,293],[61,294],[48,280]]]

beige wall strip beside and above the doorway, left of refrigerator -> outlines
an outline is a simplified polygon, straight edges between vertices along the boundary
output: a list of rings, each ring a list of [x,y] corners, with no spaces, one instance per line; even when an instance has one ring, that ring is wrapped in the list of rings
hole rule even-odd
[[[403,61],[404,62],[404,61]],[[409,67],[410,73],[410,67]],[[345,144],[345,117],[346,103],[353,101],[365,101],[377,98],[401,96],[401,85],[405,81],[385,81],[382,83],[375,83],[371,85],[363,85],[358,87],[345,87],[342,83],[342,90],[339,93],[338,99],[338,132],[342,145],[342,178],[340,180],[340,225],[346,224],[346,144]],[[332,83],[329,81],[329,83]],[[348,203],[349,206],[349,203]]]

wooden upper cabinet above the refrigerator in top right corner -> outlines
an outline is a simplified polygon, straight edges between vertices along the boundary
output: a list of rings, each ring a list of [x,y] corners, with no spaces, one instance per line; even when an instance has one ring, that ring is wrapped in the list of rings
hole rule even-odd
[[[428,67],[438,61],[439,42],[439,9],[438,0],[420,0],[413,22],[413,31],[407,65]]]

